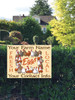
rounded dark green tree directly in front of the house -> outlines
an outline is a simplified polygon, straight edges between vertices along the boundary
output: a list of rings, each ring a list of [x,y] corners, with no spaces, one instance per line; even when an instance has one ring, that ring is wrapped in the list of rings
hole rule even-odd
[[[40,36],[39,42],[42,40],[42,31],[41,27],[38,22],[35,21],[32,17],[26,17],[24,18],[22,24],[22,35],[23,35],[23,40],[28,38],[28,43],[32,44],[33,43],[33,36],[37,35]],[[41,35],[40,35],[41,34]]]

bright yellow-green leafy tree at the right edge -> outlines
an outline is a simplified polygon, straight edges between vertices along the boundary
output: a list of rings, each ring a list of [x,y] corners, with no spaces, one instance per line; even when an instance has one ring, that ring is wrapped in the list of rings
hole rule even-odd
[[[52,34],[63,46],[75,46],[75,0],[55,0],[54,8],[57,19],[49,24]]]

